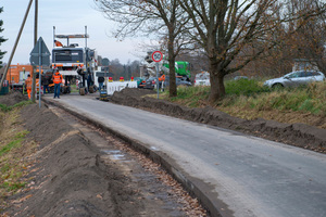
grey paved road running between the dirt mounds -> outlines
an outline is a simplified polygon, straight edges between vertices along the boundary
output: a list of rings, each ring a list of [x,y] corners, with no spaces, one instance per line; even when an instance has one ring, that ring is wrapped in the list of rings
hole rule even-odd
[[[90,97],[53,101],[167,154],[211,189],[225,216],[326,216],[325,154]]]

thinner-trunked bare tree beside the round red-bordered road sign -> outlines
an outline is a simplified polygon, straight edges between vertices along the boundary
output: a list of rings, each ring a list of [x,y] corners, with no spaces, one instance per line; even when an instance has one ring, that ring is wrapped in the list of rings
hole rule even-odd
[[[167,38],[167,58],[170,67],[170,97],[177,95],[175,82],[175,58],[184,46],[185,28],[188,16],[185,16],[178,0],[96,0],[100,11],[109,20],[120,23],[116,30],[117,37],[133,36],[139,34]]]

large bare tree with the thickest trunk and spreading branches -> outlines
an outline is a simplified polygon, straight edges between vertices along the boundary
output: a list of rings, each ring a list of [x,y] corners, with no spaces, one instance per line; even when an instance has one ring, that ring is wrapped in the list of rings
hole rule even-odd
[[[278,0],[179,0],[192,20],[199,43],[209,58],[211,102],[225,94],[224,77],[235,73],[260,54],[273,48],[274,34],[283,22],[308,20],[314,11],[284,13]],[[280,12],[280,13],[275,13]],[[259,42],[254,53],[246,53],[249,44]],[[237,60],[235,64],[235,60]]]

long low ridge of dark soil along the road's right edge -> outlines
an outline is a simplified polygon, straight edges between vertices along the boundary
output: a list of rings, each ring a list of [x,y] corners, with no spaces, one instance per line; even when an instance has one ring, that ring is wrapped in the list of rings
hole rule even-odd
[[[153,93],[153,91],[151,91]],[[114,92],[111,101],[117,104],[139,107],[152,112],[188,119],[191,122],[223,127],[287,144],[326,153],[326,129],[304,124],[281,124],[274,120],[258,118],[246,120],[206,106],[188,108],[164,100],[149,97],[148,90],[126,88]]]

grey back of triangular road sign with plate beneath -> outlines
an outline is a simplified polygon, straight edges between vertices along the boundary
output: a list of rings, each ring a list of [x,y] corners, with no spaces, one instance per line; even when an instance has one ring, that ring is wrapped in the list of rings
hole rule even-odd
[[[29,55],[30,65],[50,65],[50,51],[42,37],[38,39]]]

